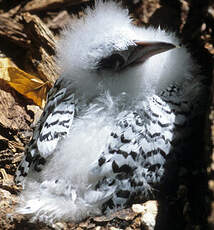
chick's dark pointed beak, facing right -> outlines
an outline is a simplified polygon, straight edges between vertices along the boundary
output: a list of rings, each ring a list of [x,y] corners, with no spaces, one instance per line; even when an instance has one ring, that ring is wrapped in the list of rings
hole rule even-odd
[[[143,63],[149,57],[176,48],[175,45],[167,42],[145,42],[135,41],[137,45],[128,58],[130,64]]]

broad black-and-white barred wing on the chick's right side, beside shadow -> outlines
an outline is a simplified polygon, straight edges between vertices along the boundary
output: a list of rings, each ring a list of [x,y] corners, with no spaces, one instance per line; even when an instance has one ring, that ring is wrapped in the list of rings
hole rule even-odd
[[[96,189],[112,191],[104,209],[123,206],[138,192],[144,197],[151,195],[151,188],[163,176],[172,147],[174,118],[164,101],[152,97],[142,109],[119,119],[106,149],[91,169],[92,175],[98,175]]]

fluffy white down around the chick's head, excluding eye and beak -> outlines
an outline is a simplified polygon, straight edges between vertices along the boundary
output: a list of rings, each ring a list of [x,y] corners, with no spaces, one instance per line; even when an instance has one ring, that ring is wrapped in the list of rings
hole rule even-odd
[[[85,18],[65,28],[58,43],[56,61],[64,78],[72,82],[76,91],[92,97],[101,88],[110,90],[112,95],[124,91],[133,97],[148,96],[175,81],[182,84],[187,79],[192,80],[196,66],[182,46],[154,55],[143,65],[121,72],[93,72],[100,58],[107,57],[112,50],[126,50],[136,40],[162,41],[180,47],[173,33],[160,28],[136,27],[128,11],[120,5],[98,1],[95,10],[88,9]]]

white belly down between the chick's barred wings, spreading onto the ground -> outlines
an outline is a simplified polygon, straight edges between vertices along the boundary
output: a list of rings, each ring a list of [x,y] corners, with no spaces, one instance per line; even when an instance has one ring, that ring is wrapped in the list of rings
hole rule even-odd
[[[32,221],[46,223],[80,221],[101,214],[114,187],[108,192],[95,191],[99,174],[90,173],[90,169],[113,130],[116,107],[107,94],[82,112],[43,171],[31,172],[26,178],[18,213],[32,214]]]

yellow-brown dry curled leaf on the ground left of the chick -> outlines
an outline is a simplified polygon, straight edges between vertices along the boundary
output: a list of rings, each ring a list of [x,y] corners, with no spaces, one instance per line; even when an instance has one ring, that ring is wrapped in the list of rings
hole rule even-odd
[[[25,97],[44,108],[50,82],[43,82],[41,79],[24,72],[16,67],[8,58],[0,58],[0,78],[7,81],[11,87]]]

